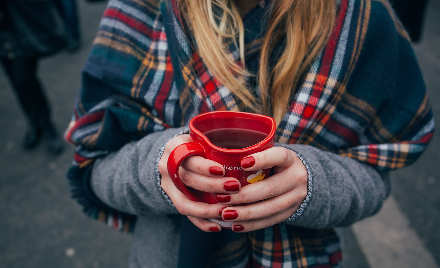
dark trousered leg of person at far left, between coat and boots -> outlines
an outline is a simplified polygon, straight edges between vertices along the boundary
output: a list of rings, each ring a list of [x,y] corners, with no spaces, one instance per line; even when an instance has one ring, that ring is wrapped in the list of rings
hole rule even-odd
[[[12,88],[29,121],[39,125],[50,122],[49,103],[37,79],[37,59],[1,59]]]

